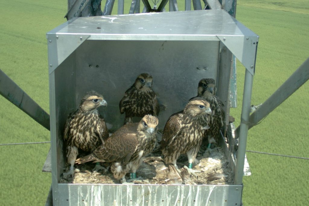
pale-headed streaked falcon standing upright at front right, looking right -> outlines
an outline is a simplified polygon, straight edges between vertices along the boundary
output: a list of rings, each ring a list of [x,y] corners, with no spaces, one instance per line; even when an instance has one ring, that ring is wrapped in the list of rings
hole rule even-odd
[[[161,150],[165,164],[173,164],[180,154],[188,155],[189,169],[201,146],[204,132],[208,129],[210,104],[203,98],[190,100],[183,111],[169,117],[163,130]]]

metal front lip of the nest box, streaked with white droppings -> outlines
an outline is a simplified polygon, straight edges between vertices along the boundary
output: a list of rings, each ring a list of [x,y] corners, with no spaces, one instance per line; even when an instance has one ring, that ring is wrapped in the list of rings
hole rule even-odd
[[[59,205],[240,205],[241,185],[59,184]]]

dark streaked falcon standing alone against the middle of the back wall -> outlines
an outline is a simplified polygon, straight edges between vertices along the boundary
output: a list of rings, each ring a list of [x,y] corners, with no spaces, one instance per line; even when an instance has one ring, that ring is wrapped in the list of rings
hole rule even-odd
[[[124,124],[131,123],[133,117],[147,114],[159,115],[160,106],[157,95],[152,90],[152,76],[147,73],[138,75],[134,84],[125,91],[119,103],[120,113],[125,113]]]

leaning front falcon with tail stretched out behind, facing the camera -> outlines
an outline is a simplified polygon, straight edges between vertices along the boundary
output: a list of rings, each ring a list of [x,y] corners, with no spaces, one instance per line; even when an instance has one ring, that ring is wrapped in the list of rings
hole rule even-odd
[[[76,163],[111,162],[115,179],[126,182],[125,174],[130,171],[130,178],[134,179],[142,157],[155,148],[158,123],[157,117],[145,115],[138,123],[125,124],[92,154],[77,159]]]

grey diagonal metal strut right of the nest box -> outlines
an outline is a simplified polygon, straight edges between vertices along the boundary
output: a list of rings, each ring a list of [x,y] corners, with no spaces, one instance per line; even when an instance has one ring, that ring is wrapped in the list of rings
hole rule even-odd
[[[299,87],[309,79],[309,58],[264,102],[250,115],[248,129],[258,124],[270,112],[290,97]],[[239,135],[239,127],[236,135]]]

